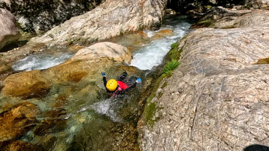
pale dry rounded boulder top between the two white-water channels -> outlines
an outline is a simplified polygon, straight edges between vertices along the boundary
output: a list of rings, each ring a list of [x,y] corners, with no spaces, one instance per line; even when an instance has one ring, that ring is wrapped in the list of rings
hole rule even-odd
[[[124,60],[126,63],[130,63],[132,53],[124,46],[112,42],[99,42],[87,48],[80,49],[71,59],[82,60],[102,57],[108,57],[110,60],[115,60],[116,62],[122,62]]]

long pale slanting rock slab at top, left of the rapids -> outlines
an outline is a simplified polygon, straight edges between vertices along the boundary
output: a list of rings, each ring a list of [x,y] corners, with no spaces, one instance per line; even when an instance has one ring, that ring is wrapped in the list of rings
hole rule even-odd
[[[157,1],[112,1],[108,0],[97,8],[48,31],[40,37],[32,38],[36,43],[49,46],[65,42],[93,42],[132,33],[143,29],[159,28],[165,13],[167,0]]]

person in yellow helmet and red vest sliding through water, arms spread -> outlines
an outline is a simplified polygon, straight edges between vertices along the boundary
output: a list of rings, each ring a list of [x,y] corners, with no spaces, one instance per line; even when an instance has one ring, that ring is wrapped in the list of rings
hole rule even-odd
[[[104,72],[101,72],[103,76],[104,86],[107,89],[107,92],[110,93],[112,97],[116,97],[118,94],[123,94],[124,92],[132,90],[136,87],[136,84],[141,82],[140,78],[137,78],[134,84],[128,86],[128,82],[125,82],[125,77],[127,76],[127,72],[123,72],[116,80],[111,79],[107,82],[106,75]],[[130,82],[130,79],[129,79]]]

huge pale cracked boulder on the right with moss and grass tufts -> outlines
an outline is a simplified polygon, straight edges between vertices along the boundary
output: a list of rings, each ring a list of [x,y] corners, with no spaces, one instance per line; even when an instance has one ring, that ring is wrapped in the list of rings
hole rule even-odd
[[[268,39],[268,27],[200,28],[178,41],[169,54],[181,52],[181,64],[159,79],[138,124],[142,150],[268,145]]]

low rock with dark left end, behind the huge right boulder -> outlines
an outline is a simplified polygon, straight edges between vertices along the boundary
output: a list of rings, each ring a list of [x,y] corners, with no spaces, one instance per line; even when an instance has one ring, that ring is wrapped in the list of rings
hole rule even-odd
[[[235,28],[269,26],[268,10],[236,10],[228,11],[222,8],[211,8],[197,23],[190,28],[213,27]]]

